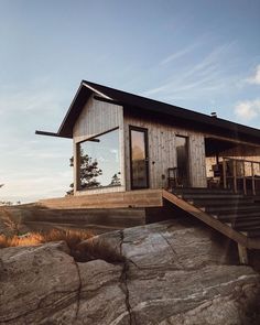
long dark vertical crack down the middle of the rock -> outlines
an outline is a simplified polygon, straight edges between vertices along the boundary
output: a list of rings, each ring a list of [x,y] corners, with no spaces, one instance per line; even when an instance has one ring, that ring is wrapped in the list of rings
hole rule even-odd
[[[122,245],[123,245],[123,230],[120,230],[120,254],[122,254]],[[136,263],[134,263],[136,264]],[[136,321],[136,315],[132,311],[132,307],[130,305],[130,302],[129,302],[129,289],[128,289],[128,271],[129,271],[129,261],[127,260],[127,258],[124,259],[123,261],[123,267],[122,267],[122,272],[121,272],[121,275],[120,275],[120,282],[121,282],[121,289],[122,289],[122,292],[124,293],[124,296],[126,296],[126,300],[124,300],[124,303],[126,303],[126,307],[127,307],[127,311],[128,311],[128,314],[129,314],[129,319],[130,319],[130,325],[136,325],[137,324],[137,321]]]

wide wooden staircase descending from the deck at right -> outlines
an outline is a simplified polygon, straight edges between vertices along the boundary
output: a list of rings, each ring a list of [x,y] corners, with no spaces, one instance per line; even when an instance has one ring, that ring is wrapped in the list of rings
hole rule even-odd
[[[174,188],[163,198],[237,241],[239,258],[248,263],[247,249],[260,249],[260,201],[230,189]]]

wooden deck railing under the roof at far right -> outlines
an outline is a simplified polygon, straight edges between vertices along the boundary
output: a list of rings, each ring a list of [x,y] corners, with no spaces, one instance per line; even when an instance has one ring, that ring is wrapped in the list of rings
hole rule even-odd
[[[235,193],[256,195],[260,192],[260,162],[223,158],[224,188],[232,188]]]

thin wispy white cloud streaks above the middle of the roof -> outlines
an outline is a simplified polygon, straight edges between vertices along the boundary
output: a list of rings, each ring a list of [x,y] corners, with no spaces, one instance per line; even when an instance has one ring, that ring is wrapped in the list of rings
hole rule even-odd
[[[178,72],[174,73],[174,77],[170,77],[166,83],[155,88],[148,89],[143,96],[159,95],[165,99],[175,99],[184,95],[187,96],[205,96],[206,91],[219,91],[225,89],[226,85],[234,84],[238,78],[232,73],[229,73],[227,63],[230,67],[235,64],[229,58],[232,57],[232,52],[236,42],[229,42],[216,46],[208,52],[201,61],[193,65],[185,65]],[[183,50],[175,55],[182,55],[189,51]],[[172,56],[173,58],[174,56]],[[170,58],[164,62],[170,62]],[[177,76],[177,77],[176,77]],[[193,91],[193,93],[192,93]]]

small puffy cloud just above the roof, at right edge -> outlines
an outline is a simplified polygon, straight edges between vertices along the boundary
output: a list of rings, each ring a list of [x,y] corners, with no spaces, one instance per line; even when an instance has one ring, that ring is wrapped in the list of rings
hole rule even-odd
[[[260,116],[260,99],[240,101],[235,107],[235,115],[241,120],[252,120]]]

